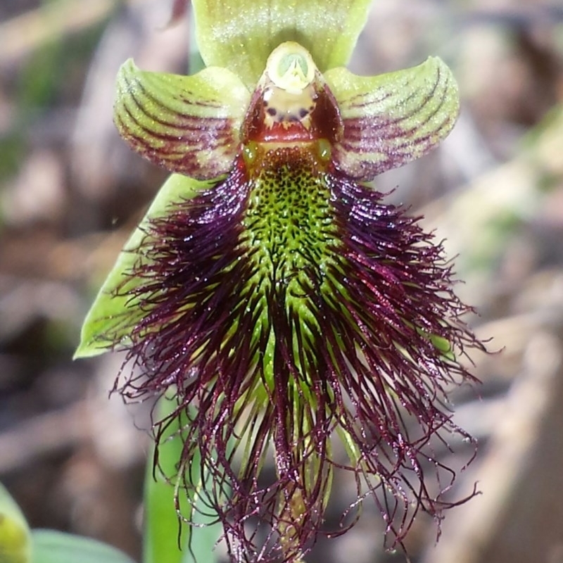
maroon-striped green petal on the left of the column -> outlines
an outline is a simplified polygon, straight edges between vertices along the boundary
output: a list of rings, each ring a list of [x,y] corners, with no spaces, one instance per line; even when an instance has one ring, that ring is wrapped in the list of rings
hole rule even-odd
[[[250,93],[224,68],[193,76],[139,70],[117,79],[114,120],[135,151],[171,172],[210,179],[230,170]]]

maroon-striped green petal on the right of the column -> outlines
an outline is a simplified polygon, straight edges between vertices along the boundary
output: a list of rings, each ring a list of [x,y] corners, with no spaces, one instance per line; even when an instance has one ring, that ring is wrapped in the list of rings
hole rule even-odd
[[[439,58],[376,77],[334,68],[325,78],[343,121],[335,163],[363,181],[429,152],[448,135],[459,113],[457,84]]]

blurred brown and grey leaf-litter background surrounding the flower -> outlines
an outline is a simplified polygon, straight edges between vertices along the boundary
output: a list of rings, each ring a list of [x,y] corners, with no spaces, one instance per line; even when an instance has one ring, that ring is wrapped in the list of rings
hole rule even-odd
[[[185,73],[189,21],[172,0],[0,3],[0,481],[33,527],[101,538],[139,558],[148,407],[108,398],[118,355],[72,362],[82,319],[165,179],[120,141],[113,81],[133,56]],[[175,17],[172,17],[172,16]],[[462,114],[440,149],[382,175],[455,257],[468,319],[492,355],[453,395],[479,438],[453,498],[481,495],[412,562],[563,563],[563,2],[375,0],[351,68],[438,55]],[[448,455],[444,453],[443,455]],[[308,561],[404,561],[360,523]]]

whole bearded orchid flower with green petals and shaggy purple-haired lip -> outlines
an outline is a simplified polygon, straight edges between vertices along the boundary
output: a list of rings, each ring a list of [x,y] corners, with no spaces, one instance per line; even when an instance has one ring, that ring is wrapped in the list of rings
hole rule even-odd
[[[198,450],[234,561],[300,560],[337,471],[357,495],[336,533],[369,496],[400,545],[417,512],[451,505],[434,446],[471,439],[446,390],[473,379],[459,358],[482,346],[440,244],[367,182],[450,132],[455,80],[438,58],[346,70],[369,0],[192,4],[207,68],[118,75],[120,134],[173,175],[76,355],[126,350],[126,398],[175,389],[180,479],[194,486]]]

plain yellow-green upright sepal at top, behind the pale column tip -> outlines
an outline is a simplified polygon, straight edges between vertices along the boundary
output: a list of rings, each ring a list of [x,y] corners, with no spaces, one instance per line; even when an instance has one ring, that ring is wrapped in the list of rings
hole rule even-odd
[[[308,49],[321,72],[346,65],[371,0],[193,0],[205,64],[229,68],[253,89],[282,42]]]

